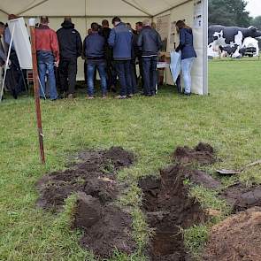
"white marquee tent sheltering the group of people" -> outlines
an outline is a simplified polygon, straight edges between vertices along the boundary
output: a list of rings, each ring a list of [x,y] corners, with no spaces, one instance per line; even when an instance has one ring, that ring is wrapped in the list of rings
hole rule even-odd
[[[135,22],[150,18],[157,23],[163,38],[167,38],[167,50],[173,50],[179,43],[174,31],[174,23],[185,19],[194,29],[196,63],[193,67],[193,92],[208,93],[207,69],[207,0],[1,0],[0,20],[6,21],[10,13],[26,19],[48,15],[50,27],[58,29],[64,16],[71,16],[76,29],[84,38],[91,22],[101,23],[102,19],[119,16],[123,21]],[[165,35],[165,36],[164,36]],[[79,59],[78,78],[83,78],[82,61]],[[166,82],[173,84],[170,72]]]

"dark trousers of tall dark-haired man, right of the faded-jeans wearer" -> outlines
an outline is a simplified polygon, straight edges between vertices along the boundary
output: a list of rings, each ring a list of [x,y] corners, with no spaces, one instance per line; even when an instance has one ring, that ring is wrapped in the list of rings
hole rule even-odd
[[[120,83],[120,95],[127,96],[133,94],[131,77],[131,60],[115,61],[116,71]]]

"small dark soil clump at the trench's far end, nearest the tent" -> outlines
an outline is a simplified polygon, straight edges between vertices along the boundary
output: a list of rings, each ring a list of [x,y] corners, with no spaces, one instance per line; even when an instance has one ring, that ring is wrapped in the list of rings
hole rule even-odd
[[[210,165],[216,162],[214,149],[206,143],[199,143],[194,149],[187,146],[178,147],[173,153],[175,162],[181,164],[197,163],[199,165]]]

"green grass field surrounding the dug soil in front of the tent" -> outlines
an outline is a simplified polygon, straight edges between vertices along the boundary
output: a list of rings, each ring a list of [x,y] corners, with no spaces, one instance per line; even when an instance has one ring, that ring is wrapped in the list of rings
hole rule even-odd
[[[139,210],[141,194],[136,181],[170,163],[178,145],[209,142],[222,159],[208,168],[237,168],[261,157],[261,62],[211,61],[210,96],[179,96],[163,88],[153,98],[136,96],[126,101],[112,98],[42,103],[47,165],[39,164],[33,98],[4,100],[0,104],[0,260],[94,260],[77,243],[81,233],[70,230],[72,203],[55,216],[35,208],[35,182],[44,173],[63,169],[77,150],[104,149],[112,145],[133,150],[139,161],[119,173],[129,194],[120,199],[133,206],[134,238],[139,248],[132,257],[116,253],[110,260],[144,260],[146,226]],[[243,173],[242,180],[261,183],[260,168]],[[224,186],[234,179],[223,180]],[[226,205],[202,188],[194,188],[204,207],[226,212]],[[208,227],[185,232],[188,247],[198,251]]]

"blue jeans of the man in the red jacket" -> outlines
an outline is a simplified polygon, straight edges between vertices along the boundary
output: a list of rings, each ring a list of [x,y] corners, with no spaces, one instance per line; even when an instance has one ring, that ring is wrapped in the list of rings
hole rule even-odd
[[[40,50],[37,51],[38,72],[42,85],[40,86],[40,96],[44,97],[46,93],[45,76],[48,71],[48,81],[50,85],[50,99],[56,100],[58,98],[58,91],[56,87],[56,79],[54,73],[54,57],[50,51]],[[44,93],[43,93],[44,92]]]

